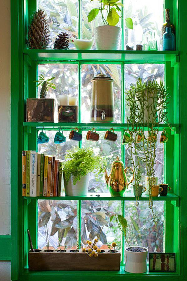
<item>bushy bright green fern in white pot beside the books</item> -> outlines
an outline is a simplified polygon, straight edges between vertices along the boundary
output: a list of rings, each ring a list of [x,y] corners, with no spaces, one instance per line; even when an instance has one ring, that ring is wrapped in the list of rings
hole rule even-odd
[[[68,150],[63,162],[65,194],[70,196],[86,196],[90,173],[97,176],[104,172],[105,161],[95,156],[92,149],[81,148]]]

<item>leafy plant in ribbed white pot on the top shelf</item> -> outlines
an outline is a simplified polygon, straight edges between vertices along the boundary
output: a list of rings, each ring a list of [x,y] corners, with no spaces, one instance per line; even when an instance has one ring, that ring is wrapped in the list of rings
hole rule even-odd
[[[123,7],[123,4],[119,1],[98,0],[99,7],[89,12],[88,22],[93,21],[98,13],[101,13],[104,24],[95,28],[95,39],[98,50],[119,50],[122,29],[116,25],[121,17],[118,12],[121,12],[121,7]],[[133,29],[133,22],[130,17],[125,18],[125,22],[128,28]]]

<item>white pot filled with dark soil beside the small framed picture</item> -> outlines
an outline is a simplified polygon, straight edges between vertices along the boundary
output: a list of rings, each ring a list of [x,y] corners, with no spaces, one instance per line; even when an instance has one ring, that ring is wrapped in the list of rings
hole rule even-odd
[[[139,247],[139,246],[134,246]],[[140,246],[141,247],[141,246]],[[130,252],[125,248],[125,271],[130,273],[144,273],[147,271],[147,253],[148,249],[146,247],[141,247],[145,249],[145,252]]]

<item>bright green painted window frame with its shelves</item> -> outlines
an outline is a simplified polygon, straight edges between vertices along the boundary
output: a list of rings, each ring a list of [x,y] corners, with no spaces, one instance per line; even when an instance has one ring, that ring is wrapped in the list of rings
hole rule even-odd
[[[79,0],[79,38],[81,36],[81,1]],[[128,274],[121,267],[120,272],[97,272],[98,278],[113,279],[126,278],[127,280],[185,280],[186,266],[186,213],[185,213],[185,162],[187,148],[187,125],[185,111],[187,101],[185,89],[187,88],[187,55],[185,48],[185,0],[165,0],[165,7],[170,7],[173,22],[176,27],[176,50],[177,51],[80,51],[80,50],[27,50],[25,38],[27,25],[34,10],[36,0],[11,0],[11,276],[12,280],[53,280],[63,277],[82,279],[82,272],[29,272],[27,267],[27,252],[29,249],[26,230],[30,229],[33,245],[37,246],[37,198],[22,198],[21,186],[21,151],[23,149],[37,150],[37,132],[39,129],[57,130],[59,123],[26,123],[25,103],[27,97],[36,97],[36,85],[33,83],[37,77],[37,65],[40,63],[78,63],[78,76],[81,81],[81,64],[120,64],[122,76],[121,112],[122,123],[113,124],[119,131],[127,127],[124,115],[124,65],[127,63],[165,63],[165,85],[172,93],[169,110],[169,121],[173,131],[168,131],[170,145],[165,145],[165,181],[173,187],[172,195],[165,198],[165,251],[176,253],[177,271],[173,274],[146,273]],[[122,11],[123,18],[123,11]],[[122,24],[123,29],[123,24]],[[123,32],[122,32],[123,34]],[[180,37],[178,36],[180,35]],[[123,50],[123,37],[122,37]],[[180,60],[179,60],[180,55]],[[107,60],[110,58],[109,60]],[[81,109],[81,83],[79,83],[79,109]],[[95,126],[99,130],[107,129],[110,125],[83,124],[76,126],[89,129]],[[63,127],[75,127],[74,124],[63,124]],[[166,127],[166,126],[164,126]],[[163,127],[160,127],[163,129]],[[123,135],[123,134],[122,134]],[[182,136],[182,137],[181,137]],[[81,147],[81,143],[79,143]],[[122,146],[122,160],[125,157],[125,147]],[[46,199],[40,197],[40,199]],[[51,198],[50,198],[51,199]],[[55,199],[55,197],[53,197]],[[59,199],[56,198],[56,199]],[[63,200],[63,198],[60,198]],[[65,199],[65,198],[64,198]],[[68,199],[70,199],[68,197]],[[75,199],[75,198],[74,198]],[[76,198],[78,200],[78,229],[81,225],[81,200],[87,198]],[[113,198],[112,198],[113,199]],[[98,200],[98,198],[89,198]],[[111,200],[110,197],[102,200]],[[132,200],[131,197],[116,198],[121,200],[122,215],[124,215],[125,200]],[[133,199],[134,200],[134,199]],[[146,199],[145,199],[146,200]],[[154,200],[161,200],[159,197]],[[163,200],[163,199],[162,199]],[[173,234],[173,235],[172,235]],[[79,234],[80,240],[80,234]],[[168,242],[169,241],[169,242]],[[122,241],[122,265],[124,264],[124,239]],[[85,278],[94,280],[96,274],[85,272]]]

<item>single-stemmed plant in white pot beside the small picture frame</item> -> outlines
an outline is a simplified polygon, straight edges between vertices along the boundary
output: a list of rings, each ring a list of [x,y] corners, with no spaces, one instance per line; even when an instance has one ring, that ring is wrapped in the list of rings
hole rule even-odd
[[[113,214],[110,217],[110,221],[116,219],[119,229],[121,230],[128,247],[125,248],[125,271],[130,273],[144,273],[147,271],[147,253],[148,249],[141,246],[130,246],[127,240],[127,220],[120,214]]]

